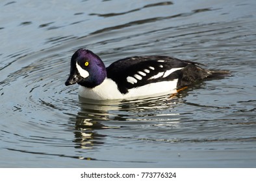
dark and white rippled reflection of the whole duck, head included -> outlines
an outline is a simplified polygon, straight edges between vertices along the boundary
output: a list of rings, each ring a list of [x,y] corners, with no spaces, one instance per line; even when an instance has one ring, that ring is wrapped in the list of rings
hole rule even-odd
[[[76,148],[94,149],[104,144],[107,135],[103,129],[120,129],[120,122],[157,116],[162,109],[170,109],[177,104],[177,96],[160,96],[140,100],[96,101],[79,98],[81,110],[75,116]],[[100,134],[101,133],[101,134]],[[109,133],[109,131],[107,132]]]

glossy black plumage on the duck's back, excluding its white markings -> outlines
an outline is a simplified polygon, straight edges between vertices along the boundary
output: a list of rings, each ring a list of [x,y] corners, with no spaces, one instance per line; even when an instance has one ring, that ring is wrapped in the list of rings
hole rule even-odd
[[[171,58],[168,56],[134,56],[115,61],[107,67],[107,78],[114,80],[117,83],[120,92],[125,94],[129,89],[140,87],[148,83],[179,79],[182,77],[180,70],[172,72],[172,74],[165,78],[163,76],[153,79],[150,78],[159,74],[159,72],[166,72],[167,70],[174,68],[184,68],[188,65],[195,66],[195,64],[199,63],[183,61],[181,59]],[[149,67],[151,67],[151,69]],[[149,70],[149,72],[146,72],[145,69]],[[144,72],[146,75],[141,76],[138,72]],[[135,83],[127,81],[127,77],[133,76],[134,78],[134,74],[138,74],[142,80],[138,80]]]

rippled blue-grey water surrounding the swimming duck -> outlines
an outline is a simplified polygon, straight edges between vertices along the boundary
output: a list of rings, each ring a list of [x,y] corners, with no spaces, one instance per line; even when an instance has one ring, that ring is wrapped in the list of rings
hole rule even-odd
[[[256,167],[256,1],[1,1],[0,167]],[[232,76],[79,100],[71,55],[192,59]]]

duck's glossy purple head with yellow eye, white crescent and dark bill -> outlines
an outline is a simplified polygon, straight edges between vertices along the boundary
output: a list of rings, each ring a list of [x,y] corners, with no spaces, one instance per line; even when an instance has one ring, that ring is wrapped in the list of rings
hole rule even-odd
[[[96,87],[107,77],[107,70],[103,61],[86,49],[77,50],[70,63],[70,76],[65,85],[78,83],[84,87]]]

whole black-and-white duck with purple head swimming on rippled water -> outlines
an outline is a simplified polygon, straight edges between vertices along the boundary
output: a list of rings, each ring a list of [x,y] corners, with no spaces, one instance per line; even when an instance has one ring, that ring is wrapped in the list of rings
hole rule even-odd
[[[170,94],[225,70],[208,70],[203,64],[170,56],[131,56],[105,64],[91,50],[80,48],[71,56],[65,85],[79,84],[79,96],[92,100],[120,100]]]

